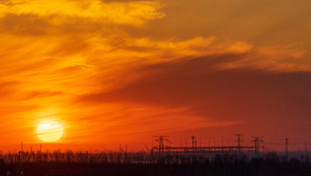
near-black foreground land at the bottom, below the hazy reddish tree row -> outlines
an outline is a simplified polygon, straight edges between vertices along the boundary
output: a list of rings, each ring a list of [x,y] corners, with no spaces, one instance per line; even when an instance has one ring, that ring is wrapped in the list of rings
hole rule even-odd
[[[165,158],[162,158],[165,159]],[[275,154],[247,159],[216,155],[211,159],[191,159],[183,162],[158,160],[153,164],[29,162],[1,163],[0,176],[11,171],[17,176],[311,176],[309,156],[286,159]]]

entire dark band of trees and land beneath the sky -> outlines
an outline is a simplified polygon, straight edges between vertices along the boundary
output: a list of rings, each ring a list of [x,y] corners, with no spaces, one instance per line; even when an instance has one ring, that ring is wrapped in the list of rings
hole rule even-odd
[[[311,160],[276,153],[248,158],[245,154],[161,155],[60,151],[0,155],[0,176],[311,176]]]

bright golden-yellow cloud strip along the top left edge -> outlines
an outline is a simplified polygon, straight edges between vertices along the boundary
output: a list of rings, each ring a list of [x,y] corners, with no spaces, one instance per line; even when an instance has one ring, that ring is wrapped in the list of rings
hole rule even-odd
[[[165,14],[158,12],[160,8],[160,1],[8,0],[0,3],[0,16],[31,14],[56,25],[75,18],[98,23],[141,25],[147,20],[163,18]]]

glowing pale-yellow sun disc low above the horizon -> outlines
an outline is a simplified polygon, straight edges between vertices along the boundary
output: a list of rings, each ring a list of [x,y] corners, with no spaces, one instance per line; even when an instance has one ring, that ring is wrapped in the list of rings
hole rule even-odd
[[[38,126],[37,134],[45,142],[55,142],[62,137],[63,127],[56,121],[47,120]]]

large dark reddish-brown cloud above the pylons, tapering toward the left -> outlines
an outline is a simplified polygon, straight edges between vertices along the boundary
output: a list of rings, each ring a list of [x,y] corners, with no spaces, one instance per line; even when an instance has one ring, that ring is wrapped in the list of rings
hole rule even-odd
[[[187,107],[192,115],[214,120],[268,120],[278,113],[306,120],[311,104],[310,72],[215,69],[250,56],[226,54],[138,66],[125,74],[143,73],[140,78],[126,82],[124,76],[126,84],[81,95],[77,102]]]

